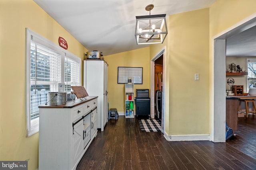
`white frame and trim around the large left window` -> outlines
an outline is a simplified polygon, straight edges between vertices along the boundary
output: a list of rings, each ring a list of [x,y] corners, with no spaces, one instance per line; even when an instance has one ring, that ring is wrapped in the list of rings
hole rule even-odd
[[[25,62],[25,80],[26,80],[26,89],[25,89],[25,97],[26,97],[26,107],[25,107],[25,113],[26,113],[26,137],[29,137],[31,135],[34,135],[39,131],[39,119],[38,124],[35,129],[31,129],[31,120],[30,120],[30,41],[32,40],[36,43],[39,43],[45,47],[48,47],[58,53],[61,54],[61,83],[64,83],[64,73],[65,73],[65,57],[68,57],[69,59],[72,59],[74,61],[78,61],[80,66],[79,71],[79,85],[81,85],[81,72],[82,72],[82,60],[81,58],[77,57],[76,55],[70,53],[69,51],[63,49],[62,47],[56,45],[52,41],[49,41],[48,39],[42,37],[41,35],[35,33],[31,29],[26,28],[26,62]]]

